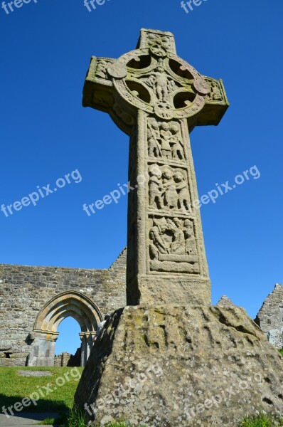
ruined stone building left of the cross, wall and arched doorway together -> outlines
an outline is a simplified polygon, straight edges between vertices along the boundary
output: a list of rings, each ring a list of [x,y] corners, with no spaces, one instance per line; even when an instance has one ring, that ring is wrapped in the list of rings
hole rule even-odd
[[[0,265],[0,366],[65,364],[54,357],[66,317],[80,325],[85,366],[97,324],[126,305],[125,283],[126,250],[107,270]]]

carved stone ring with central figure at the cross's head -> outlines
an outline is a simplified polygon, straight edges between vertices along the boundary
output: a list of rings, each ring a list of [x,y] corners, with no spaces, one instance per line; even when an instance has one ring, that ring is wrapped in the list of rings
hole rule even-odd
[[[126,53],[107,68],[114,87],[132,107],[161,119],[197,115],[210,92],[198,71],[173,53],[148,48]]]

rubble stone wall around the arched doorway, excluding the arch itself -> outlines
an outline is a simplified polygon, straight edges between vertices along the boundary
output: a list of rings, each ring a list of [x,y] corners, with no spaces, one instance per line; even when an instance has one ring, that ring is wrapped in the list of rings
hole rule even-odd
[[[102,315],[126,305],[126,249],[107,270],[0,265],[0,366],[24,366],[29,334],[48,301],[76,291]]]

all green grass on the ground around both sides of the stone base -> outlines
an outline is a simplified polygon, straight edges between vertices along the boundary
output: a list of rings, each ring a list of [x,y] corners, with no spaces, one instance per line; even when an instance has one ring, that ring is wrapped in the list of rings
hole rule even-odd
[[[281,351],[283,355],[283,350]],[[23,412],[57,412],[60,414],[60,424],[65,427],[86,427],[81,411],[73,407],[75,389],[83,368],[60,367],[0,367],[0,401],[1,407],[14,408],[17,402]],[[20,376],[19,370],[50,371],[52,376]],[[23,399],[33,399],[28,406],[23,405]],[[66,421],[66,413],[69,413]],[[56,420],[57,422],[59,421]],[[53,419],[44,423],[52,424]],[[44,423],[42,423],[44,425]],[[247,417],[239,427],[283,427],[283,419],[274,421],[269,416]],[[131,427],[129,423],[113,423],[107,427]],[[140,426],[146,427],[146,426]]]

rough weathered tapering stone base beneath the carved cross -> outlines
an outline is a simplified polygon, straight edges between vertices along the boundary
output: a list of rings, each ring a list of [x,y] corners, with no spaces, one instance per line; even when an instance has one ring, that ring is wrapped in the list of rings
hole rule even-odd
[[[283,359],[239,307],[125,307],[93,347],[75,402],[90,426],[237,426],[283,413]]]

